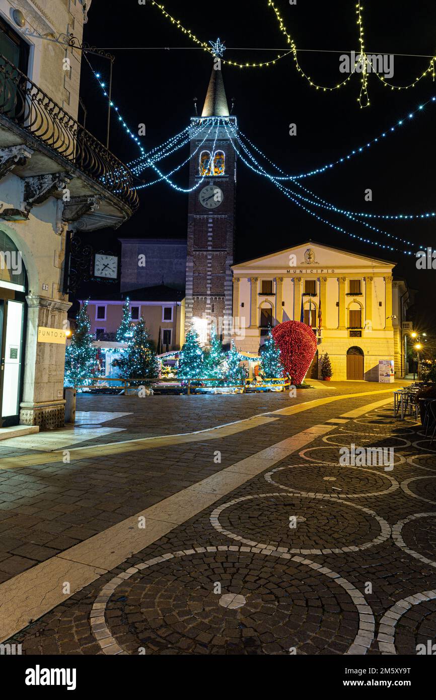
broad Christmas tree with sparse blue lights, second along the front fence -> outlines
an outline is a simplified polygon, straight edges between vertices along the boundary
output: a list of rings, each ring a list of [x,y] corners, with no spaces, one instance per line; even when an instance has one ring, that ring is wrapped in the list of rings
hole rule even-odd
[[[118,362],[123,379],[138,379],[139,381],[132,382],[138,386],[141,379],[157,377],[159,367],[143,316],[133,326],[132,331],[132,337],[129,337],[127,348]]]

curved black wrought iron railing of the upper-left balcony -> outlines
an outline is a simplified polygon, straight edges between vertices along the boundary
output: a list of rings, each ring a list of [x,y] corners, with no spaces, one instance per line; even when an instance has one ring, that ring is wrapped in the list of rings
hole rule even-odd
[[[138,195],[129,168],[41,87],[0,54],[0,114],[80,169],[134,211]]]

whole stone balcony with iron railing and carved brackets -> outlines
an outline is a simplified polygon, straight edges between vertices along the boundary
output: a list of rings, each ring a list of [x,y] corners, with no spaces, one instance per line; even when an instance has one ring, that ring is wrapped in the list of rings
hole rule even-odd
[[[50,196],[71,230],[118,228],[138,207],[130,170],[0,55],[0,179],[8,172],[24,181],[20,209],[0,211],[9,221]]]

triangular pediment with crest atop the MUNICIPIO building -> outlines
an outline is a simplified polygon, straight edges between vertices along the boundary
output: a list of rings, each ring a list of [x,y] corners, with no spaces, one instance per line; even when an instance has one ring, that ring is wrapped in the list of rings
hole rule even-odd
[[[370,258],[340,248],[307,241],[286,250],[264,255],[233,265],[233,273],[276,272],[277,274],[332,274],[346,269],[367,269],[372,272],[390,271],[394,262]]]

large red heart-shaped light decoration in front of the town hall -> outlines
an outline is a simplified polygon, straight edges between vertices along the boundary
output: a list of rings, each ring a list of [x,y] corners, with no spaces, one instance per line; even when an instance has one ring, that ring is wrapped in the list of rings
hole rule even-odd
[[[284,321],[272,329],[287,374],[301,384],[316,353],[314,331],[301,321]]]

